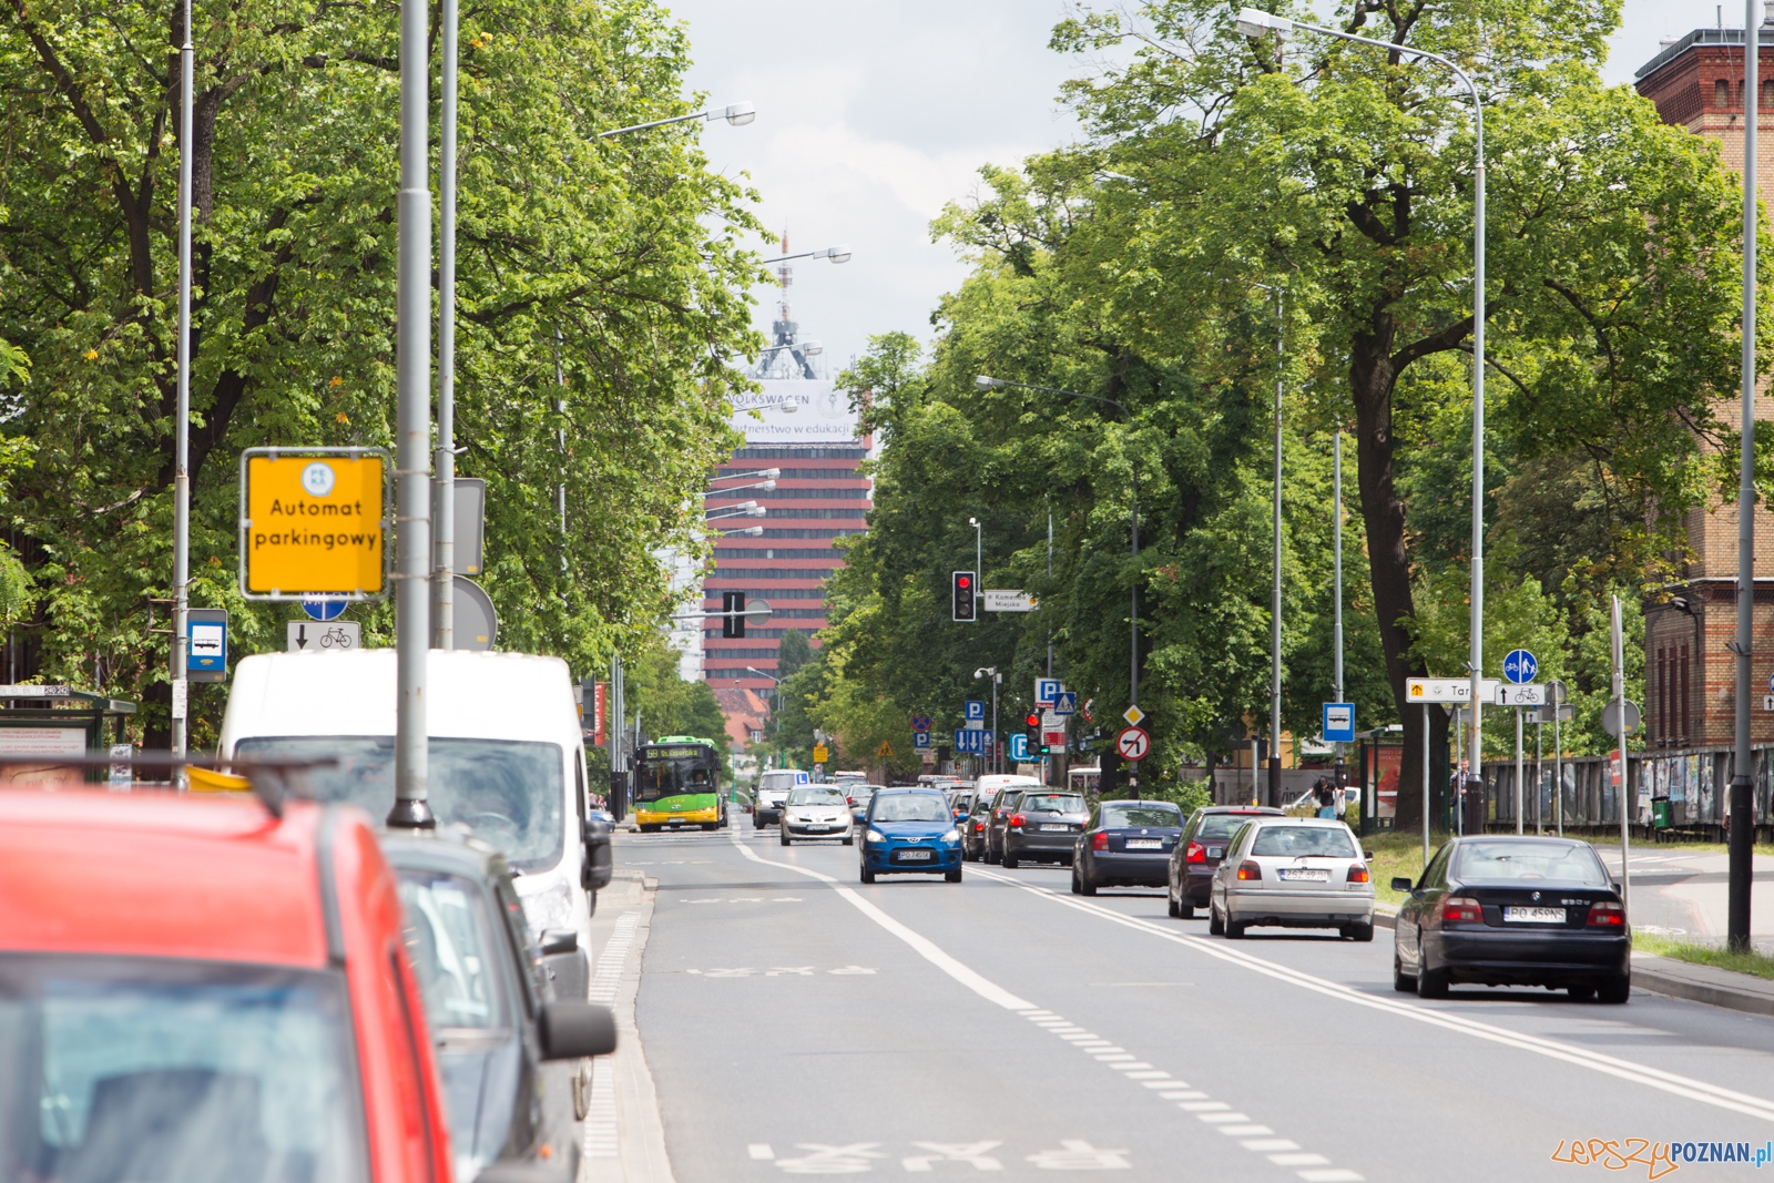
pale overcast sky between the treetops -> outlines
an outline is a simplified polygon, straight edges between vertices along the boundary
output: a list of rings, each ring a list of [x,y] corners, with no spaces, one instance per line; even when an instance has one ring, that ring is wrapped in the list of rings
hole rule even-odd
[[[690,27],[690,87],[711,103],[750,99],[747,128],[710,124],[715,168],[750,174],[761,216],[791,250],[848,243],[846,264],[800,261],[789,302],[830,372],[871,333],[931,339],[930,314],[965,266],[930,241],[944,202],[977,186],[983,163],[1015,165],[1075,138],[1059,83],[1086,62],[1047,48],[1063,0],[667,0]],[[1712,4],[1625,0],[1609,82],[1659,51],[1659,39],[1714,25]],[[1724,23],[1742,27],[1742,5]],[[768,332],[777,293],[757,298]]]

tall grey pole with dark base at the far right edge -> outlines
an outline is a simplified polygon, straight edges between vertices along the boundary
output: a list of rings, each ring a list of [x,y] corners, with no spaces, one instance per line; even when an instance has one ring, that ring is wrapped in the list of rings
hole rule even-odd
[[[1726,942],[1749,951],[1749,885],[1754,869],[1754,775],[1749,747],[1749,646],[1756,610],[1756,92],[1762,89],[1762,21],[1756,0],[1744,0],[1744,372],[1742,442],[1737,484],[1737,743],[1731,766],[1731,832]],[[1614,617],[1620,607],[1616,601]],[[1618,628],[1618,624],[1616,624]],[[1620,697],[1620,695],[1616,695]],[[1621,720],[1625,722],[1625,720]],[[1621,738],[1621,764],[1625,740]],[[1620,874],[1625,885],[1625,812],[1621,812]]]

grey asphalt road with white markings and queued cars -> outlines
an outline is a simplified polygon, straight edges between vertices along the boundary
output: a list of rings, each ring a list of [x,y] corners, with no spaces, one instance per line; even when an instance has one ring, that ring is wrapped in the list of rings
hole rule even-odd
[[[1669,1167],[1559,1158],[1774,1139],[1767,1018],[1643,991],[1421,1002],[1393,991],[1389,931],[1212,938],[1057,867],[862,885],[853,848],[749,825],[623,835],[617,858],[658,880],[637,1022],[679,1183],[1630,1179]]]

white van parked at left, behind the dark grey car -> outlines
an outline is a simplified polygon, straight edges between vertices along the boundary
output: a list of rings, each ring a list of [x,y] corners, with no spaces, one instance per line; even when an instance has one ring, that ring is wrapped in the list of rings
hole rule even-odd
[[[394,807],[394,649],[261,653],[234,669],[218,756],[325,756],[309,770],[321,800]],[[566,662],[433,649],[426,667],[429,800],[518,873],[530,929],[591,940],[584,885],[585,747]]]

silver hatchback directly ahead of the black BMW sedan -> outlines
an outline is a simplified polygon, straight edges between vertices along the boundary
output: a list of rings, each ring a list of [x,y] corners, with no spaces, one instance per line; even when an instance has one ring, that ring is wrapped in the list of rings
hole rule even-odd
[[[1231,839],[1208,892],[1208,931],[1256,924],[1334,928],[1373,940],[1373,869],[1354,832],[1329,818],[1252,818]]]

